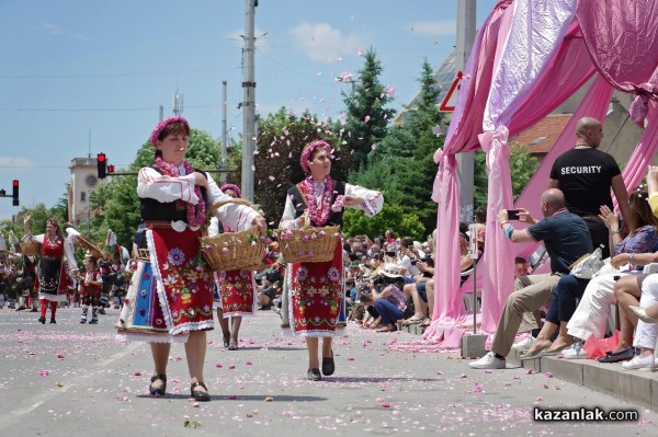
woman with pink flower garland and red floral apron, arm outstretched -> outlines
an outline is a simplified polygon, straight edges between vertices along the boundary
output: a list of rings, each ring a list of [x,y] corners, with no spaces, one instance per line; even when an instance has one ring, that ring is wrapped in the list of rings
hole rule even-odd
[[[321,140],[304,147],[300,159],[307,177],[288,189],[280,227],[300,228],[308,211],[310,226],[342,225],[343,207],[360,209],[373,217],[382,209],[381,193],[333,181],[331,147]],[[294,263],[286,268],[288,320],[293,334],[306,337],[308,348],[307,378],[322,379],[318,359],[318,337],[322,337],[322,373],[332,375],[336,365],[331,340],[339,319],[343,281],[342,243],[336,245],[333,260],[324,263]]]

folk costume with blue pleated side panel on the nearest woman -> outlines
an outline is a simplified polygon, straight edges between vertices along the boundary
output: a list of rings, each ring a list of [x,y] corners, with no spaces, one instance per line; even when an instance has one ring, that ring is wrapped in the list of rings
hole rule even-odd
[[[195,194],[193,172],[180,175],[143,168],[137,180],[145,243],[117,323],[120,340],[158,343],[186,342],[190,331],[213,329],[213,275],[201,257],[201,228],[189,226],[188,203],[213,205],[228,200],[205,174],[208,189]],[[258,212],[226,204],[213,211],[234,229],[247,229]],[[144,250],[147,249],[147,250]]]

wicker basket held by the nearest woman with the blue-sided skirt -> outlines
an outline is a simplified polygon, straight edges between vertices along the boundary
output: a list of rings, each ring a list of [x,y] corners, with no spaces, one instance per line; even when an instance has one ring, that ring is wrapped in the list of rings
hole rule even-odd
[[[201,252],[215,272],[251,269],[262,264],[265,242],[257,227],[239,232],[202,237]]]

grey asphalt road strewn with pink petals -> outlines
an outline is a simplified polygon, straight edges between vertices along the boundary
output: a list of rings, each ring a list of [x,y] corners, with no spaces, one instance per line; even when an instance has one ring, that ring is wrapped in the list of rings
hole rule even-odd
[[[80,325],[78,309],[58,324],[0,310],[0,436],[634,436],[658,435],[658,414],[551,375],[472,370],[407,333],[349,325],[334,343],[337,372],[305,379],[304,341],[284,337],[279,315],[245,319],[240,349],[209,333],[206,383],[194,403],[182,345],[174,345],[168,395],[148,396],[148,346],[114,340],[117,311]],[[533,419],[533,407],[631,409],[638,421]]]

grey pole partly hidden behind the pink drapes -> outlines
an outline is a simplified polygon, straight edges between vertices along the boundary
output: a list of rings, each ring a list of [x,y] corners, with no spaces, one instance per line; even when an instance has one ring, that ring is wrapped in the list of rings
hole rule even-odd
[[[457,0],[457,41],[455,48],[455,73],[464,71],[475,42],[475,1]],[[473,184],[475,173],[474,152],[457,153],[457,183],[460,186],[460,220],[473,221]]]

